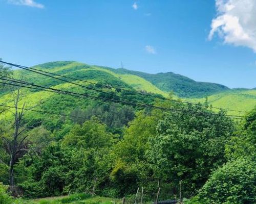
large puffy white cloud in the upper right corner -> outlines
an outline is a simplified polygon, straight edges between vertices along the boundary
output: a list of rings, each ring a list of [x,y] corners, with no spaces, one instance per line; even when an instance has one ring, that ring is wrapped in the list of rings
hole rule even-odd
[[[256,1],[216,0],[216,8],[217,17],[212,19],[208,39],[217,33],[225,43],[256,52]]]

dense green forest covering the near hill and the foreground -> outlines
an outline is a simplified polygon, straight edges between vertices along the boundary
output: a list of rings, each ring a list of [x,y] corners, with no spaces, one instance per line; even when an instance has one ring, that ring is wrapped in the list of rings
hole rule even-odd
[[[138,188],[145,202],[159,189],[159,200],[256,202],[256,108],[217,112],[207,98],[183,103],[89,65],[63,68],[70,63],[0,65],[0,203],[129,200]]]

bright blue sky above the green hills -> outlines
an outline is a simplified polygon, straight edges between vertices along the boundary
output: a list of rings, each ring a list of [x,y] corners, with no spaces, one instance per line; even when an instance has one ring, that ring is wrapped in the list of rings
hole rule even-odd
[[[243,12],[216,7],[222,1],[0,0],[0,57],[25,66],[74,60],[118,68],[123,62],[131,70],[256,87],[250,28],[228,26],[234,21],[221,18],[223,12]],[[249,37],[238,34],[240,27]]]

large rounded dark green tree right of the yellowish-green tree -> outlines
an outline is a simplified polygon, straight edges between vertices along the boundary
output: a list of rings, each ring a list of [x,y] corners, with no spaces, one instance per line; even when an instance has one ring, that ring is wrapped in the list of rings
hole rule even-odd
[[[182,180],[183,194],[189,196],[226,161],[225,144],[234,127],[222,112],[215,115],[201,106],[180,109],[187,113],[172,112],[159,122],[147,158],[156,179],[176,186]]]

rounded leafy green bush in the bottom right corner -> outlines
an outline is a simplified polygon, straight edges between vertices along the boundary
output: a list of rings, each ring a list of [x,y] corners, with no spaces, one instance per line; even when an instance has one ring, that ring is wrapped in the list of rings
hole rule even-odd
[[[237,159],[227,162],[213,173],[198,194],[205,204],[256,202],[256,162]]]

